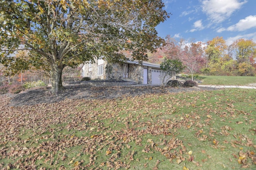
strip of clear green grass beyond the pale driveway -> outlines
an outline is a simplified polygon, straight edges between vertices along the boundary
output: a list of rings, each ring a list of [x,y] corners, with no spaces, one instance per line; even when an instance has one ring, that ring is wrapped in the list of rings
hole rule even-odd
[[[247,86],[256,83],[256,76],[200,76],[202,85]]]

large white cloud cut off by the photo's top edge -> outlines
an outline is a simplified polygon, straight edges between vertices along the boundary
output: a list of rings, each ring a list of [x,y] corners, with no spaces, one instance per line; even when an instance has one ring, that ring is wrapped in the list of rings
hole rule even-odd
[[[231,14],[240,9],[247,0],[203,0],[202,10],[213,22],[220,23],[231,16]]]

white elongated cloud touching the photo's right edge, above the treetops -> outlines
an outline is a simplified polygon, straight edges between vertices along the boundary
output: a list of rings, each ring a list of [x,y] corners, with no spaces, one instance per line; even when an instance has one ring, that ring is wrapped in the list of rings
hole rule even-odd
[[[231,25],[227,28],[228,31],[244,31],[246,29],[256,27],[256,15],[248,16],[245,19],[240,20],[235,25]]]

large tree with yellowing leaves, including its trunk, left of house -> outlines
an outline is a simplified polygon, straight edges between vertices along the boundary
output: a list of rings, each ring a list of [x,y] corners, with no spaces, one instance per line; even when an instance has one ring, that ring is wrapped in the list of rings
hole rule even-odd
[[[55,94],[64,89],[65,66],[95,57],[120,61],[120,50],[146,60],[164,43],[155,29],[169,17],[163,7],[162,0],[0,0],[0,62],[30,51],[30,61],[50,68]]]

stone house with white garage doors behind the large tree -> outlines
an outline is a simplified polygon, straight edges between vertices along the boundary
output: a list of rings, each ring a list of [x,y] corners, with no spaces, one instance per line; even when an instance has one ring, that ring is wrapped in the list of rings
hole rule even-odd
[[[108,72],[108,67],[112,68]],[[94,79],[106,80],[114,79],[132,79],[138,84],[161,84],[160,64],[143,61],[142,64],[136,61],[126,61],[124,63],[108,63],[103,59],[98,59],[95,63],[85,63],[80,65],[81,76]]]

